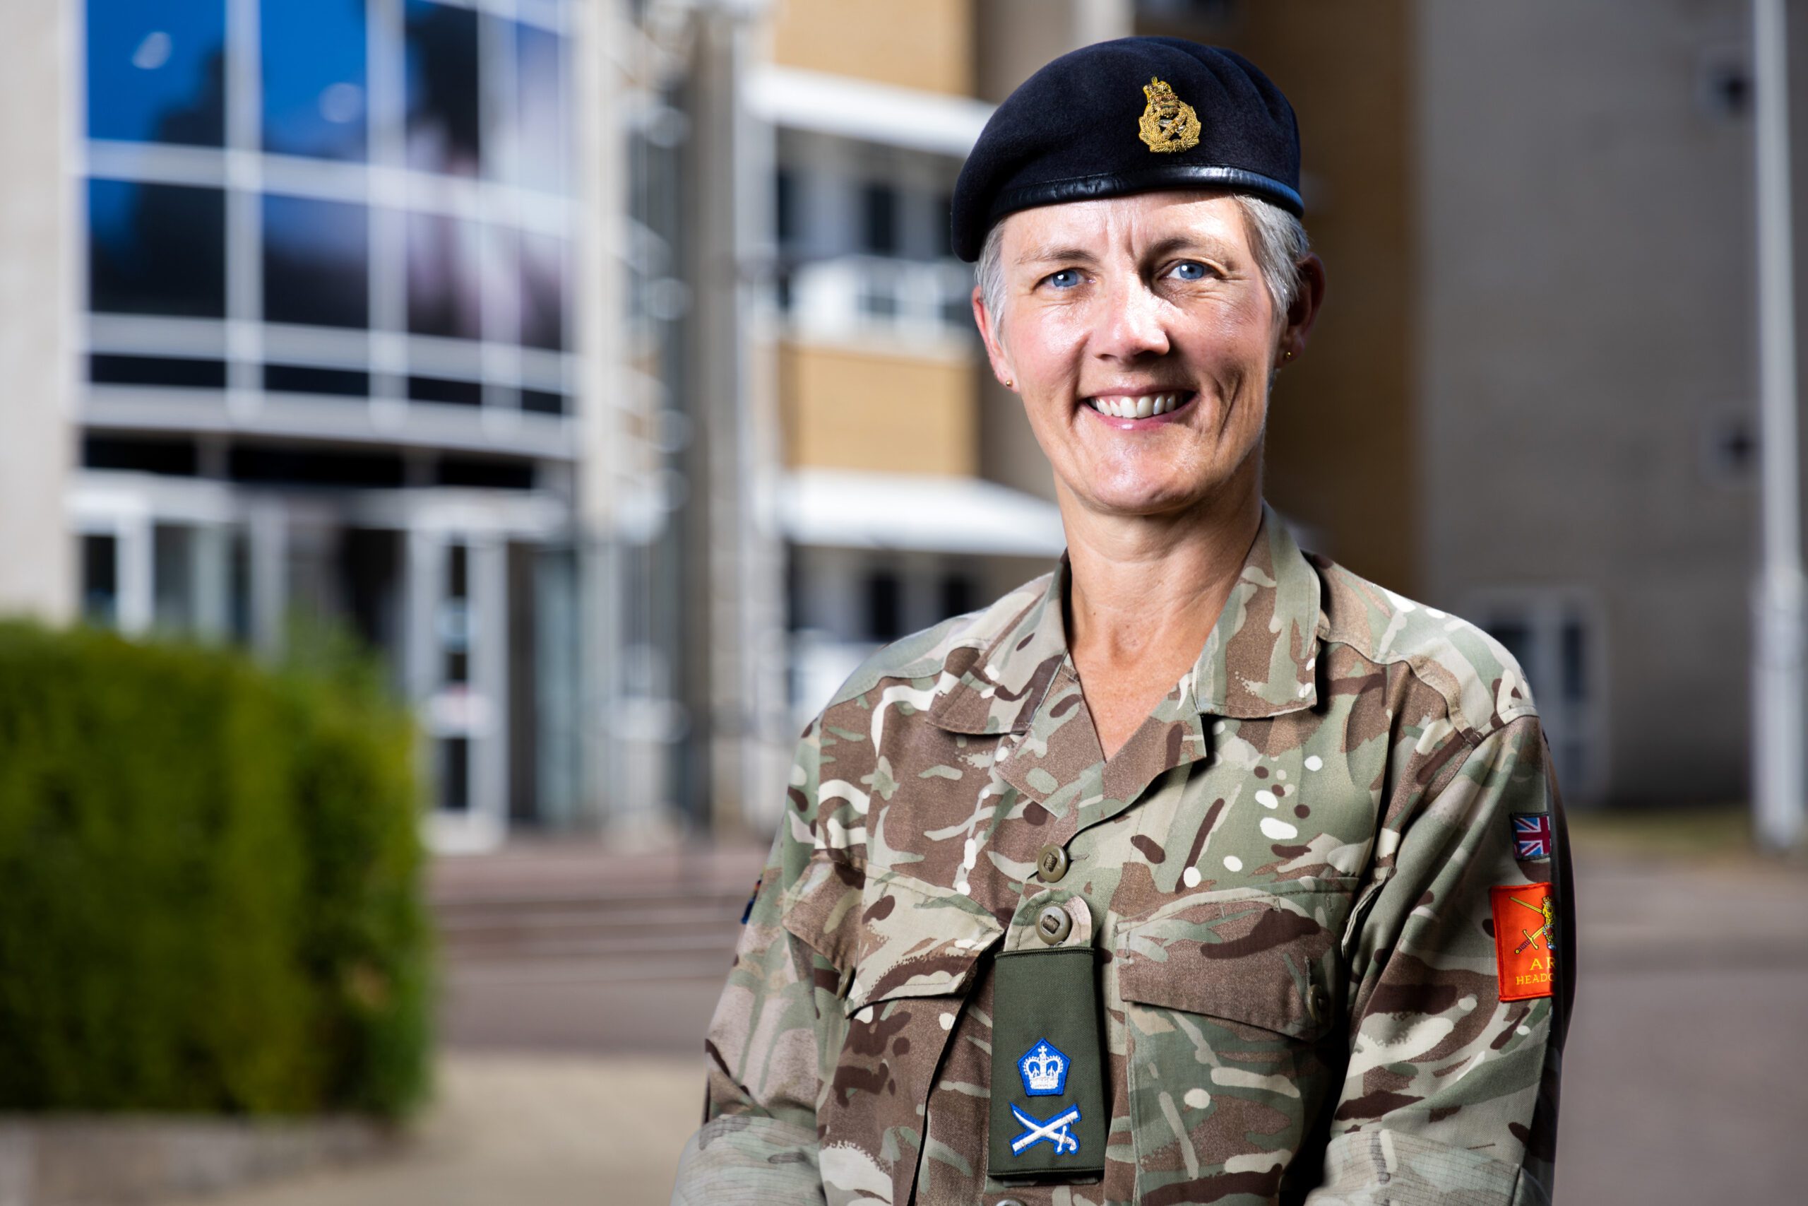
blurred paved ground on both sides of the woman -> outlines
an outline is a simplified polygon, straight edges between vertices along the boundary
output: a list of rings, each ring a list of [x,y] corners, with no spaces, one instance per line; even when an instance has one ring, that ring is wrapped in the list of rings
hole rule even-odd
[[[443,866],[450,1045],[414,1148],[208,1206],[664,1202],[758,861],[513,852]],[[1801,1201],[1808,875],[1584,846],[1577,895],[1560,1206]]]

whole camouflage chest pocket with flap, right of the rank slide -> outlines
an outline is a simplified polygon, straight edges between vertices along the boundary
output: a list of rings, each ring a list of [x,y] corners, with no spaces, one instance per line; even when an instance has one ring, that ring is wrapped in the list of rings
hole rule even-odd
[[[1347,915],[1340,884],[1302,881],[1197,891],[1117,928],[1139,1199],[1280,1192],[1329,1092]]]

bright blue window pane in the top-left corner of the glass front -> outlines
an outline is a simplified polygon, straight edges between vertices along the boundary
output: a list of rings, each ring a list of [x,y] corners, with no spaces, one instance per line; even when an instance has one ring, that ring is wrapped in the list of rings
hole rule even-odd
[[[89,0],[89,137],[221,146],[224,0]]]

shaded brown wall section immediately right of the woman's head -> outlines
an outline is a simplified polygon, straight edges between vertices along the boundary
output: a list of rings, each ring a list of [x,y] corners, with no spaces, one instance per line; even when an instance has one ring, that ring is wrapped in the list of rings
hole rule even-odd
[[[1177,33],[1248,54],[1300,119],[1305,228],[1329,291],[1305,354],[1275,383],[1267,497],[1318,551],[1410,595],[1412,5],[1264,0]]]

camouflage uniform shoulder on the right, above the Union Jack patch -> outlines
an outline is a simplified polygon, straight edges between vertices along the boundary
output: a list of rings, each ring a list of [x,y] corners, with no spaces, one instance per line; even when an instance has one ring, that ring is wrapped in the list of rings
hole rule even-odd
[[[1537,716],[1519,662],[1481,627],[1396,595],[1325,557],[1311,561],[1325,586],[1320,636],[1376,665],[1407,665],[1443,696],[1450,721],[1470,741],[1521,716]]]

